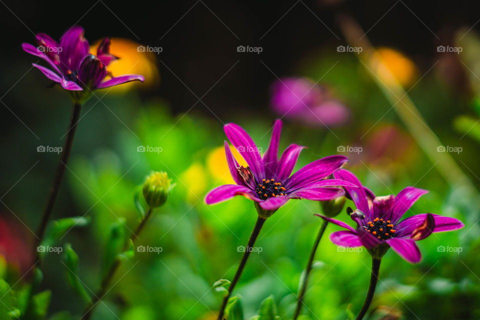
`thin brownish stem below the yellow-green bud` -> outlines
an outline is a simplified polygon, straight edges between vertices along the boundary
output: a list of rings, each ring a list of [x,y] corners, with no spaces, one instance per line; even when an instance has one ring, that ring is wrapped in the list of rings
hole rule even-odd
[[[152,208],[149,208],[149,209],[148,209],[148,211],[147,211],[146,214],[145,214],[145,217],[144,217],[144,218],[141,220],[141,222],[138,224],[138,226],[136,227],[135,231],[133,231],[132,236],[131,236],[131,241],[132,241],[132,242],[135,242],[135,238],[137,238],[138,235],[140,234],[141,230],[143,229],[143,227],[145,226],[146,222],[148,221],[148,219],[149,219],[152,211],[153,211]],[[123,251],[125,251],[125,250],[127,250],[127,249],[128,249],[128,241],[125,242],[125,245],[124,245],[124,247],[123,247]],[[113,275],[115,275],[116,270],[117,270],[118,267],[120,266],[120,264],[121,264],[121,260],[120,260],[120,259],[115,259],[115,260],[113,261],[113,263],[111,264],[111,266],[109,267],[108,271],[105,273],[105,276],[103,277],[103,279],[102,279],[102,281],[101,281],[100,289],[94,294],[91,303],[87,305],[85,311],[83,312],[83,315],[80,317],[80,320],[81,320],[81,319],[85,319],[85,320],[89,320],[89,319],[90,319],[95,305],[98,304],[98,302],[99,302],[99,301],[103,298],[103,296],[108,292],[108,291],[107,291],[108,286],[109,286],[109,284],[110,284],[110,282],[111,282],[111,279],[113,278]]]

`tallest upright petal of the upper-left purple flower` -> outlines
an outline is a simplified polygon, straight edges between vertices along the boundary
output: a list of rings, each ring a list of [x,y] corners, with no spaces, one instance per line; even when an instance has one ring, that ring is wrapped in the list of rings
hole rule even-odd
[[[69,28],[60,38],[60,66],[64,72],[77,70],[81,60],[90,52],[83,33],[83,28],[76,25]]]

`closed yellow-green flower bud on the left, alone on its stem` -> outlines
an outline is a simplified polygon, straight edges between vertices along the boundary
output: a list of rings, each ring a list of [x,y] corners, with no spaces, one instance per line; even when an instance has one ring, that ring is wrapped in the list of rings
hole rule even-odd
[[[143,183],[143,197],[151,208],[161,206],[167,200],[172,187],[166,172],[152,172]]]

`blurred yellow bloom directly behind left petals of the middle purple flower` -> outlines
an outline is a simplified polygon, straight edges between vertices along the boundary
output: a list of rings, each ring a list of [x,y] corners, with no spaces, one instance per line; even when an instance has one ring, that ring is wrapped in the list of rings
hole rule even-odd
[[[238,161],[238,164],[247,166],[245,160],[237,151],[237,149],[230,145],[230,150],[233,156]],[[235,183],[230,175],[228,164],[226,163],[225,148],[219,146],[210,151],[206,158],[206,165],[216,183]]]

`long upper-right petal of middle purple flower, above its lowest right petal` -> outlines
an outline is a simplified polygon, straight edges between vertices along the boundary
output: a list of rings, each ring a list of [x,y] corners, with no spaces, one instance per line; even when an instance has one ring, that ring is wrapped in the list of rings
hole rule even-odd
[[[343,155],[330,155],[313,161],[293,173],[286,181],[285,188],[291,192],[321,180],[341,168],[347,161],[347,157]]]

